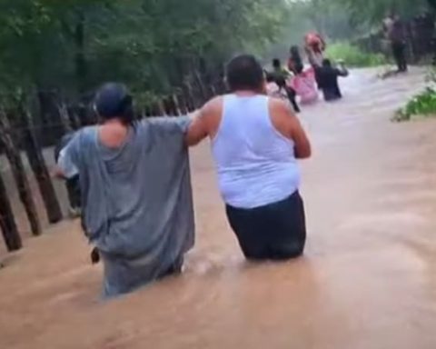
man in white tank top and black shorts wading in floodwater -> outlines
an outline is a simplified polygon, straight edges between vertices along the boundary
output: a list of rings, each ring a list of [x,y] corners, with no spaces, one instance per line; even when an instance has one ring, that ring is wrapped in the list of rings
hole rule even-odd
[[[246,258],[298,257],[306,228],[297,159],[311,156],[308,137],[289,104],[266,96],[255,57],[233,58],[227,82],[231,94],[203,106],[188,143],[211,138],[227,217]]]

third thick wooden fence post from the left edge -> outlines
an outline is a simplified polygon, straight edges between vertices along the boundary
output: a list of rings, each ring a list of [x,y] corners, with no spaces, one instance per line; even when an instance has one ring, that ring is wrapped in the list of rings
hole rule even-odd
[[[20,115],[22,125],[24,126],[25,154],[38,183],[39,191],[45,204],[48,222],[51,224],[58,223],[63,218],[61,205],[57,200],[50,174],[45,165],[44,155],[41,152],[41,146],[35,135],[32,116],[24,105],[20,108]]]

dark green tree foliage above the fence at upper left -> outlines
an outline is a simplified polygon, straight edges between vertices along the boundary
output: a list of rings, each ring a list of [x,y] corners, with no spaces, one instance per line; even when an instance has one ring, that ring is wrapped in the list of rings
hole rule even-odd
[[[270,42],[284,0],[0,0],[0,88],[67,95],[122,80],[166,94]]]

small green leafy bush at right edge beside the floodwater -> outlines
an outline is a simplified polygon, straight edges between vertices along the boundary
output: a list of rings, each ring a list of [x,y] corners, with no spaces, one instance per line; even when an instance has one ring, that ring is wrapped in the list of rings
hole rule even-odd
[[[436,90],[427,87],[420,95],[415,95],[411,101],[398,110],[393,121],[409,121],[413,116],[429,117],[436,115]]]

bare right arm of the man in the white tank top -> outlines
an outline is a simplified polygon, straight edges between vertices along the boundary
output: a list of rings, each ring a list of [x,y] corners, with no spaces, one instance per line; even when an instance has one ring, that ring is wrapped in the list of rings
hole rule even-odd
[[[272,124],[285,137],[292,139],[297,159],[307,159],[312,155],[312,146],[300,120],[295,116],[292,108],[278,100],[270,101]]]

